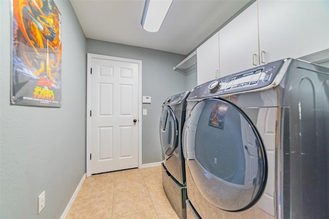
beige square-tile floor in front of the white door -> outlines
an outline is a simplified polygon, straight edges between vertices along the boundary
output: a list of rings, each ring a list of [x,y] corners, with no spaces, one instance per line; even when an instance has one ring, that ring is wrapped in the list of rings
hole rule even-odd
[[[163,191],[158,166],[87,177],[66,218],[179,217]]]

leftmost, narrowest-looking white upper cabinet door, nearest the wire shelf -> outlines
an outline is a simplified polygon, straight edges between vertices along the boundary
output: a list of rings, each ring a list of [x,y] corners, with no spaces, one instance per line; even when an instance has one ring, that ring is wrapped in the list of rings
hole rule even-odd
[[[199,46],[196,52],[197,84],[202,84],[218,77],[218,70],[220,69],[218,32]]]

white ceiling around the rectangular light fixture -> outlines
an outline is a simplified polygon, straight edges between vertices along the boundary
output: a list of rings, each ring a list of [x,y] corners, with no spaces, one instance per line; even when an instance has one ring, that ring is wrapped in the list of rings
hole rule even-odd
[[[86,38],[188,54],[250,0],[174,0],[158,32],[141,27],[144,0],[70,0]]]

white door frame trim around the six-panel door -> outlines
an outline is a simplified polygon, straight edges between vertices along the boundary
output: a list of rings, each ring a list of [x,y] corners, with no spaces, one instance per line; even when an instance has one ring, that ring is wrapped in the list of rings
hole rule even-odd
[[[87,53],[87,104],[86,104],[86,176],[91,176],[90,171],[90,153],[92,149],[92,130],[91,130],[91,116],[90,110],[92,108],[92,75],[90,69],[92,68],[93,59],[106,59],[119,62],[129,62],[138,64],[138,167],[142,165],[142,61],[135,59],[126,59],[113,56],[104,56],[101,54]]]

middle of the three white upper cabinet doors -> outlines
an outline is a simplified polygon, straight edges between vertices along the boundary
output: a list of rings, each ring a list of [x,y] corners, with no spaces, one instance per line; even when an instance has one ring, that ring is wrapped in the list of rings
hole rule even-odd
[[[259,64],[257,2],[219,33],[221,77]]]

